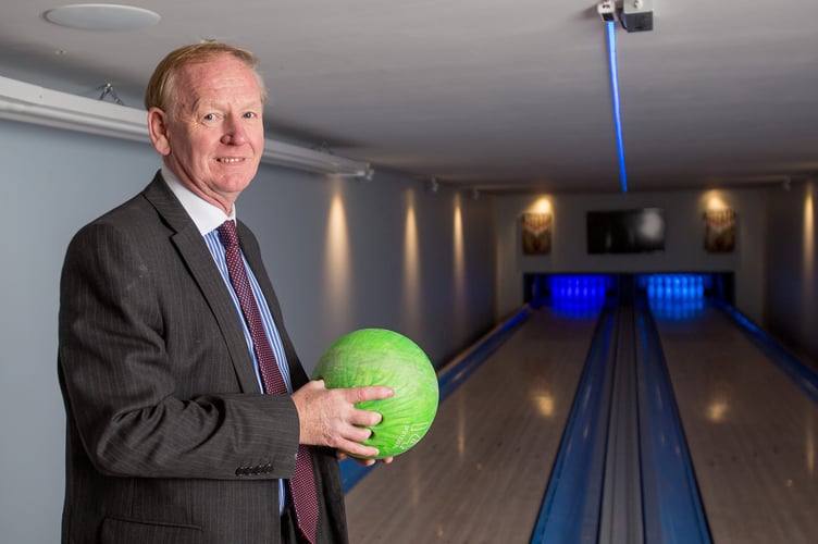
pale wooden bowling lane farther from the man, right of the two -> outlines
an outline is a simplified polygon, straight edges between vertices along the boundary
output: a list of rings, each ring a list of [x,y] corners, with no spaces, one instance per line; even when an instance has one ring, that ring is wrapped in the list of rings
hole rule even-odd
[[[818,405],[720,311],[656,322],[714,542],[816,542]]]

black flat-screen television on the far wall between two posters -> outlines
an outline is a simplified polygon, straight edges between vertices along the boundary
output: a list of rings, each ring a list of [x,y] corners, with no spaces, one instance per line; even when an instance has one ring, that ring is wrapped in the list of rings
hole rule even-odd
[[[588,254],[642,254],[665,250],[665,210],[588,211]]]

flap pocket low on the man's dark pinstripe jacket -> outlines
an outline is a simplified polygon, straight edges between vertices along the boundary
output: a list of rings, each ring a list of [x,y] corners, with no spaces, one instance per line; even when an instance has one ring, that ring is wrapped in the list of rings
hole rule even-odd
[[[106,518],[100,544],[200,544],[201,528],[182,523]]]

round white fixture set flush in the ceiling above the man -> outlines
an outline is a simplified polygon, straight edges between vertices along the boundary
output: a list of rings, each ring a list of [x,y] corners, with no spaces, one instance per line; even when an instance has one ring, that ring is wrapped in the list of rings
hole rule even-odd
[[[133,30],[159,23],[158,13],[132,5],[77,3],[42,13],[46,21],[84,30]]]

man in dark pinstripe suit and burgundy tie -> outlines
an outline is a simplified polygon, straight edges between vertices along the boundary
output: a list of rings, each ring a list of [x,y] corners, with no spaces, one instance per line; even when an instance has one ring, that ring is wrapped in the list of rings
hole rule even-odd
[[[336,450],[376,455],[360,442],[380,415],[355,403],[393,392],[308,381],[234,221],[264,146],[255,64],[216,42],[170,53],[146,92],[162,170],[69,247],[64,543],[347,541]]]

